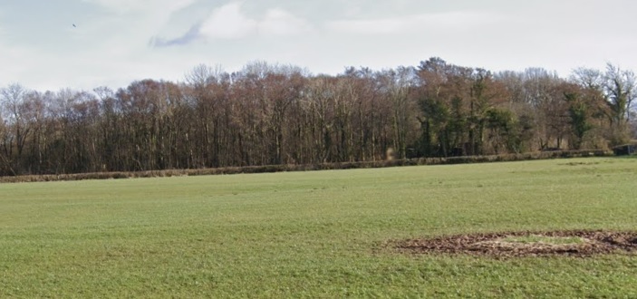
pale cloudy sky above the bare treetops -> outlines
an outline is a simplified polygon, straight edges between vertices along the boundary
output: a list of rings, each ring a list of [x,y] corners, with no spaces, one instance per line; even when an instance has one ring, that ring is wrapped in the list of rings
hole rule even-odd
[[[256,61],[637,71],[636,13],[633,0],[3,0],[0,87],[118,89]]]

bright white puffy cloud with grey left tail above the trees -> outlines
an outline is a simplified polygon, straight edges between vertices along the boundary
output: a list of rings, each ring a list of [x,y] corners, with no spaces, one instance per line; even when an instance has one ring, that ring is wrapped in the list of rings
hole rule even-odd
[[[280,8],[268,9],[262,17],[252,18],[241,10],[241,6],[242,3],[232,2],[217,7],[206,19],[192,25],[186,34],[176,38],[155,36],[150,39],[150,44],[155,47],[166,47],[198,40],[290,36],[302,34],[312,28],[304,19]]]

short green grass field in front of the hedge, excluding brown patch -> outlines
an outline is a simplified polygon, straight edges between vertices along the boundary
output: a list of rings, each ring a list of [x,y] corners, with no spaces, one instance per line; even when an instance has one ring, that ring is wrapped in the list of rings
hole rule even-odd
[[[637,230],[637,159],[0,185],[0,297],[636,297],[637,256],[388,240]]]

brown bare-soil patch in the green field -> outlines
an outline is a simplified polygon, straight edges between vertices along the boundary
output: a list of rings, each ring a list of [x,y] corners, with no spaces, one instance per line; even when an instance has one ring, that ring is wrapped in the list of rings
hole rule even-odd
[[[439,236],[391,242],[402,253],[473,256],[597,256],[637,253],[637,232],[552,231]]]

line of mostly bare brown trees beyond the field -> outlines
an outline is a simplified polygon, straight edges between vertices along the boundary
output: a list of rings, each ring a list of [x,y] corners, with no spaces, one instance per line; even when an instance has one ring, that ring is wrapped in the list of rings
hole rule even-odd
[[[312,75],[198,65],[113,91],[0,89],[0,175],[607,149],[634,136],[634,73],[418,66]]]

